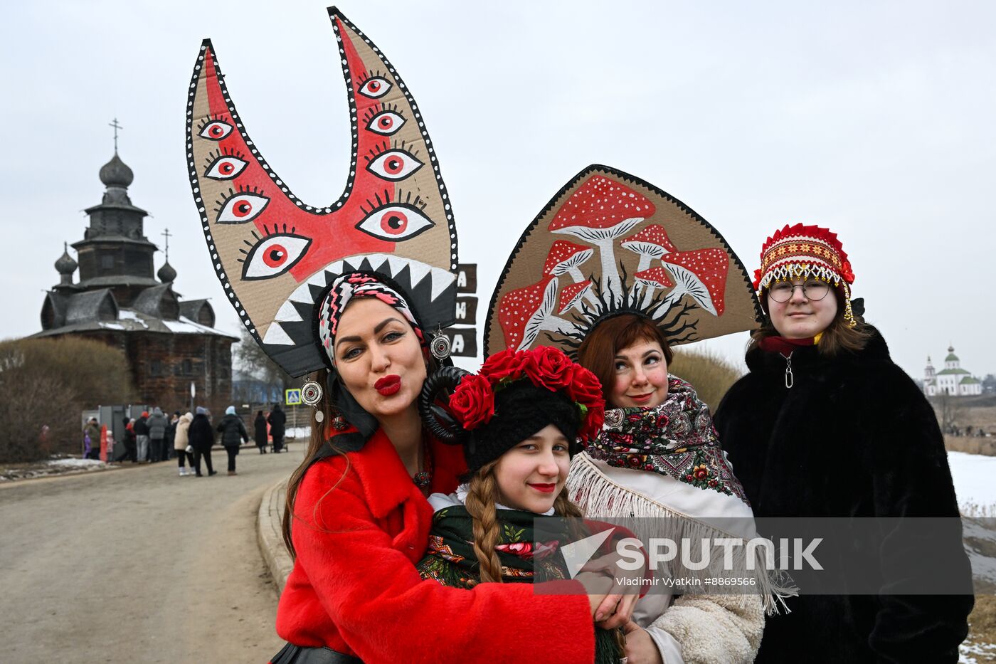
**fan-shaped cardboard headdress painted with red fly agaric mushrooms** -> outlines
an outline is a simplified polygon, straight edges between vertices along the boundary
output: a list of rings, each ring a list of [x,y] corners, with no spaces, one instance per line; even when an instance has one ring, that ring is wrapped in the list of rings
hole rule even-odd
[[[754,329],[761,307],[719,232],[666,191],[588,166],[522,234],[491,297],[485,355],[559,346],[574,356],[606,316],[655,321],[670,345]]]

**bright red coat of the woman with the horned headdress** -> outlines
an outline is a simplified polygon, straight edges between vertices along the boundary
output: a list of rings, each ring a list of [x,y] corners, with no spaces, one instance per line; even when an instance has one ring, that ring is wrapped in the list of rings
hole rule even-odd
[[[430,445],[431,492],[452,493],[466,470],[462,451]],[[594,661],[584,595],[537,594],[525,583],[463,590],[419,577],[432,507],[382,430],[359,452],[315,462],[294,515],[297,558],[277,609],[277,633],[291,643],[367,664]],[[577,581],[557,583],[583,592]]]

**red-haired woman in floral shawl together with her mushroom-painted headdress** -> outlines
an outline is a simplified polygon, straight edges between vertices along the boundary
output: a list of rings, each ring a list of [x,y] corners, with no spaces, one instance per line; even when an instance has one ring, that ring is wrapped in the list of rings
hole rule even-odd
[[[759,315],[746,268],[713,226],[649,182],[593,165],[523,233],[491,298],[485,352],[558,346],[603,382],[605,430],[568,476],[586,516],[642,517],[624,523],[675,542],[746,539],[751,509],[708,408],[667,375],[667,360],[673,345],[752,329]],[[749,566],[734,550],[732,570],[722,551],[702,570],[679,560],[658,570],[725,594],[651,586],[626,627],[630,662],[753,660],[782,589],[764,561]],[[749,583],[706,585],[718,576]]]

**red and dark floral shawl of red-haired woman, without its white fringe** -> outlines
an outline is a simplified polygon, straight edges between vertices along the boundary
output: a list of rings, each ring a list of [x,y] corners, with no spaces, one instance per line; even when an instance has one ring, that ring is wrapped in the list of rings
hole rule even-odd
[[[750,504],[719,446],[709,407],[676,376],[667,377],[667,399],[659,406],[607,410],[602,435],[586,452],[616,468],[667,475]]]

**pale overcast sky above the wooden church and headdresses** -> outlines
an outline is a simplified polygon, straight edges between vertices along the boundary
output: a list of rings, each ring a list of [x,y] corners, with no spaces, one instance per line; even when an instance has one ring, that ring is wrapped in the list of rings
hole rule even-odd
[[[175,289],[210,297],[219,327],[238,329],[186,179],[193,62],[200,40],[212,38],[261,154],[305,202],[327,204],[346,183],[351,137],[325,6],[8,4],[0,338],[41,329],[62,243],[82,239],[82,209],[101,200],[97,173],[114,154],[114,118],[135,174],[131,200],[151,213],[146,236],[161,245],[165,227],[173,235]],[[480,265],[483,306],[525,226],[577,171],[599,163],[690,205],[750,272],[775,228],[831,227],[851,255],[867,319],[900,366],[919,377],[926,356],[936,365],[953,343],[969,371],[996,373],[996,4],[339,6],[421,107],[460,259]],[[697,346],[740,361],[745,340]]]

